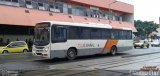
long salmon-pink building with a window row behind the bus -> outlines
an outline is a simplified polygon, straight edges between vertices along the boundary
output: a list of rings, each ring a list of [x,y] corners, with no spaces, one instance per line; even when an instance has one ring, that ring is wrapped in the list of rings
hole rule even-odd
[[[134,27],[134,7],[115,0],[0,0],[0,42],[33,40],[40,21]]]

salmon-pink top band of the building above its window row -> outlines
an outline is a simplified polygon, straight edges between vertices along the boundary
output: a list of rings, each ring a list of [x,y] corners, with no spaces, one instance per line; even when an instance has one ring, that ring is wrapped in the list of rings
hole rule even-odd
[[[90,5],[90,6],[112,9],[112,10],[120,11],[120,12],[124,12],[124,13],[134,13],[133,5],[123,3],[120,1],[113,3],[115,0],[71,0],[71,1]],[[113,3],[113,4],[111,4],[111,3]],[[109,5],[110,5],[110,7],[109,7]]]

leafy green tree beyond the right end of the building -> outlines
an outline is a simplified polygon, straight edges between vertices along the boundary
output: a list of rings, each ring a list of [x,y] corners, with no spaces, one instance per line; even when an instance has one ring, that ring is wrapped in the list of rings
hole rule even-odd
[[[136,36],[148,37],[152,32],[158,32],[159,24],[154,23],[154,21],[134,21],[137,32],[134,33]]]

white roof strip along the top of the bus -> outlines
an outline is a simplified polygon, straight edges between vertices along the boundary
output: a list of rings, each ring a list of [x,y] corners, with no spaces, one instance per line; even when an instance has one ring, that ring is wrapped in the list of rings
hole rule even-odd
[[[39,23],[43,23],[43,22],[49,22],[51,24],[66,25],[66,26],[81,26],[81,27],[95,27],[95,28],[112,29],[111,25],[109,25],[109,24],[101,24],[101,23],[90,23],[90,22],[75,23],[75,22],[60,22],[60,21],[42,21],[42,22],[39,22]],[[123,27],[122,30],[132,30],[132,29]]]

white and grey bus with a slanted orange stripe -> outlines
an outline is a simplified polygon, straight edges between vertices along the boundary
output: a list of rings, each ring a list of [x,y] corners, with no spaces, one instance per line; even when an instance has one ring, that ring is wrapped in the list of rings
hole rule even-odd
[[[133,47],[130,28],[114,29],[109,24],[43,21],[34,31],[33,55],[49,59],[115,55]]]

